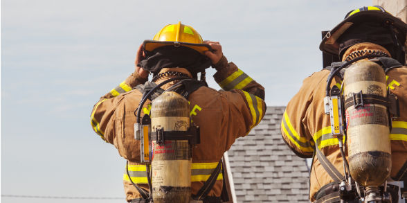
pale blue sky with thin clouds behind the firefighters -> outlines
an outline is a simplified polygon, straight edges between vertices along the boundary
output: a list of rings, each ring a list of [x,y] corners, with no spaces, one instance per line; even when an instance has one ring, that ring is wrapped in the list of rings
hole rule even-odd
[[[286,105],[322,69],[321,30],[372,1],[1,1],[1,202],[125,202],[125,160],[91,130],[93,105],[138,46],[181,21]],[[220,89],[211,77],[210,87]],[[72,200],[3,197],[118,197]]]

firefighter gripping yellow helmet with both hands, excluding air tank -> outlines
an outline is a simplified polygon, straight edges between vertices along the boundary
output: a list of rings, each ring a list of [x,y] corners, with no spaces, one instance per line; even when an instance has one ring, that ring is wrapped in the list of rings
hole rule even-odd
[[[194,28],[181,22],[165,26],[153,40],[145,40],[135,64],[134,73],[102,96],[91,112],[96,134],[128,160],[128,173],[123,176],[127,202],[145,202],[149,192],[146,167],[140,160],[140,141],[134,139],[134,112],[143,94],[169,78],[197,79],[201,73],[203,79],[202,72],[210,66],[217,70],[214,78],[222,90],[207,87],[204,80],[189,82],[184,89],[192,123],[199,126],[201,134],[200,143],[192,148],[191,195],[192,200],[221,202],[223,175],[216,174],[212,186],[206,186],[206,182],[235,139],[260,123],[266,111],[264,87],[228,62],[219,42],[203,41]],[[153,74],[152,81],[147,80],[149,73]],[[168,89],[175,82],[161,88]],[[141,117],[149,114],[149,103],[158,94],[145,103]]]

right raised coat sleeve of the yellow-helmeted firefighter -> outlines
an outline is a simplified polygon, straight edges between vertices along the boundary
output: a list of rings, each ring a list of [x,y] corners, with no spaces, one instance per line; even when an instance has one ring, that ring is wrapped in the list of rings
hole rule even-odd
[[[253,127],[260,123],[266,112],[264,87],[238,69],[225,57],[215,64],[214,78],[221,91],[222,121],[224,134],[228,134],[226,148],[230,148],[235,139],[246,136]]]

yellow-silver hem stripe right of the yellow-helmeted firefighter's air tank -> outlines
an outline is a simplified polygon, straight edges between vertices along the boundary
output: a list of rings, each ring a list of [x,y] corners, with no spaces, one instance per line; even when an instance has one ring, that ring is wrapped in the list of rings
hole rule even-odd
[[[219,162],[210,163],[192,163],[191,165],[191,182],[206,181],[213,173]],[[219,173],[216,180],[224,179],[222,173]]]

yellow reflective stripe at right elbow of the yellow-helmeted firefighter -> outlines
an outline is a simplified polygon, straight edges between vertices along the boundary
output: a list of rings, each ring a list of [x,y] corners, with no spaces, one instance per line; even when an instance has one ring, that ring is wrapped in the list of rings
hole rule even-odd
[[[246,97],[246,101],[248,104],[248,109],[250,109],[251,117],[252,117],[252,124],[250,129],[255,127],[263,118],[263,100],[253,94],[249,94],[247,91],[242,91],[244,97]]]

